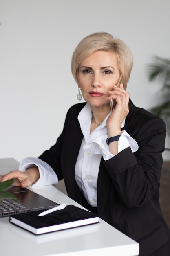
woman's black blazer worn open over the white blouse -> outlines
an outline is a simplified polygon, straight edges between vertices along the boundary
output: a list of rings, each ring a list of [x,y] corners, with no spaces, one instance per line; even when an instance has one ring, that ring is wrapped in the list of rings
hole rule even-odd
[[[77,116],[86,103],[72,106],[57,142],[39,158],[47,162],[58,179],[64,178],[68,196],[91,209],[75,182],[75,163],[82,143]],[[140,255],[155,252],[170,240],[170,230],[159,206],[166,126],[162,119],[129,102],[124,128],[139,150],[126,148],[110,160],[101,159],[97,186],[97,213],[140,244]],[[92,210],[93,211],[93,210]],[[114,238],[113,238],[114,239]],[[170,255],[169,251],[165,255]],[[156,255],[156,254],[153,254]],[[162,254],[164,255],[164,254]]]

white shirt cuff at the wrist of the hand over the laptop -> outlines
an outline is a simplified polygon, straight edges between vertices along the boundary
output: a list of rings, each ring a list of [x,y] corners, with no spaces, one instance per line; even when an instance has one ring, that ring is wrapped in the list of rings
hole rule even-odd
[[[19,165],[19,170],[21,172],[26,171],[26,169],[29,168],[29,166],[35,164],[38,166],[38,170],[40,173],[40,178],[38,181],[33,184],[31,187],[34,186],[45,186],[45,185],[54,185],[58,183],[58,177],[46,162],[42,161],[39,158],[34,158],[34,157],[28,157],[22,160],[22,162]]]

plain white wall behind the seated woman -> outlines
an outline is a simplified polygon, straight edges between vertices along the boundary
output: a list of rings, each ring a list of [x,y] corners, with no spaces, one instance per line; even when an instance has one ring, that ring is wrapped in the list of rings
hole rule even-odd
[[[170,58],[169,12],[169,0],[0,0],[0,158],[38,157],[55,143],[78,103],[71,55],[93,32],[128,44],[130,97],[146,109],[157,105],[161,85],[148,81],[146,65],[155,54]]]

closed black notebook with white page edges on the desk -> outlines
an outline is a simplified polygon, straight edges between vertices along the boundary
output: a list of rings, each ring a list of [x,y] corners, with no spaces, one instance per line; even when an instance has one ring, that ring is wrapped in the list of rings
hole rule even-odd
[[[74,205],[38,217],[41,212],[42,210],[12,215],[10,222],[36,235],[99,222],[99,217],[95,213]]]

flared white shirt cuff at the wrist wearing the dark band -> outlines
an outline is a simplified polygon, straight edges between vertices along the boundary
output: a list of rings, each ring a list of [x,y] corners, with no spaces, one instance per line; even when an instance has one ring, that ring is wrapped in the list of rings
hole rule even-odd
[[[104,160],[109,160],[115,155],[109,152],[109,145],[106,143],[108,135],[102,135],[84,145],[84,150],[93,154],[102,154]],[[125,130],[121,132],[118,140],[118,153],[125,148],[130,147],[132,152],[136,152],[139,148],[135,139],[133,139]]]

